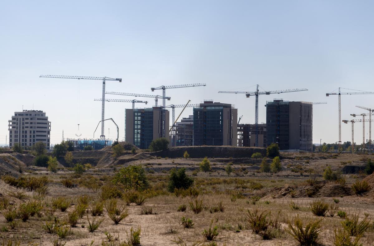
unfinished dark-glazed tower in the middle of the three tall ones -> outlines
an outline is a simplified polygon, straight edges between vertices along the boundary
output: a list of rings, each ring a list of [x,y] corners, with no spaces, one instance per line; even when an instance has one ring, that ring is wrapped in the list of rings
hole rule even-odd
[[[204,101],[193,109],[193,145],[237,146],[237,109]]]

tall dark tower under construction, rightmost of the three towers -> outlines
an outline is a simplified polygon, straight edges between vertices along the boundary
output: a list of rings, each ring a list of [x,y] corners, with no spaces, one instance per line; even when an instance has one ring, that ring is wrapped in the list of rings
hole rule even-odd
[[[312,151],[312,102],[281,99],[266,103],[266,142],[279,148]]]

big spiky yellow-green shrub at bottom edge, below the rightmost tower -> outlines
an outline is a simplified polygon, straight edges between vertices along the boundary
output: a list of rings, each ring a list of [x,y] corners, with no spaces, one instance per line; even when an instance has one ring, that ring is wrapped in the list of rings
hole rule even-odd
[[[301,246],[317,245],[318,234],[321,232],[320,223],[318,221],[310,221],[305,228],[301,222],[299,215],[295,219],[295,225],[288,224],[288,233],[291,234]]]

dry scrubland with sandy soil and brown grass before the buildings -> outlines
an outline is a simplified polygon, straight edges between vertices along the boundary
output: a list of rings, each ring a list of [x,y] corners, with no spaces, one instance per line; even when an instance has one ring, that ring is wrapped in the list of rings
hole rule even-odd
[[[94,151],[90,153],[95,155]],[[345,219],[338,216],[344,217],[344,212],[348,218],[358,216],[359,223],[368,222],[362,229],[364,233],[353,231],[352,234],[361,234],[357,238],[362,245],[374,245],[373,190],[358,196],[351,189],[356,180],[367,177],[360,168],[352,166],[365,165],[371,155],[282,154],[281,171],[261,173],[261,158],[209,158],[211,171],[197,172],[201,158],[152,157],[139,150],[135,154],[126,151],[114,158],[110,148],[99,153],[105,155],[105,161],[86,168],[83,174],[76,174],[61,164],[57,173],[51,173],[44,167],[27,166],[25,155],[0,154],[3,175],[0,181],[0,245],[10,245],[9,242],[13,242],[12,245],[127,245],[129,239],[136,241],[136,230],[140,229],[141,245],[291,246],[300,245],[289,233],[289,225],[297,224],[297,216],[303,227],[311,221],[320,221],[318,243],[334,245],[334,232],[340,230],[340,235],[344,232],[341,222]],[[92,156],[84,154],[92,160]],[[74,152],[74,156],[77,162],[79,153]],[[80,156],[79,162],[84,164],[84,157]],[[228,163],[232,163],[233,168],[230,176],[225,171]],[[150,189],[135,192],[111,185],[121,167],[138,164],[146,170]],[[326,181],[322,175],[327,166],[331,166],[332,171],[358,171],[342,174],[337,182]],[[186,174],[194,179],[192,188],[174,193],[167,191],[168,175],[173,167],[186,168]],[[20,169],[22,174],[19,174]],[[18,186],[26,189],[13,186],[18,181],[4,174],[25,177],[25,182]],[[374,185],[374,177],[366,179]],[[113,201],[117,201],[117,211],[109,208]],[[312,213],[312,202],[327,204],[325,216]],[[35,214],[25,220],[27,212],[22,214],[22,211],[27,205]],[[184,208],[185,211],[178,211]],[[193,208],[201,211],[195,213]],[[9,220],[12,211],[15,211],[15,218],[7,222],[5,215]],[[112,217],[122,215],[123,220],[115,224],[110,214]],[[185,225],[182,225],[183,217]],[[252,226],[251,221],[256,217],[257,224],[262,222],[263,228]],[[75,220],[76,225],[71,226]],[[101,221],[101,224],[90,232],[93,221]],[[217,228],[217,236],[214,228]],[[215,236],[212,241],[203,236],[204,230]],[[263,239],[268,237],[269,240]],[[356,239],[346,238],[352,242]]]

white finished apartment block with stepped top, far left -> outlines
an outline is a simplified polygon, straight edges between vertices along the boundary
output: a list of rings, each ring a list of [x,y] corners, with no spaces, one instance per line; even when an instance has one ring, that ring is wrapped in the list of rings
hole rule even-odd
[[[43,142],[50,149],[50,122],[41,110],[22,110],[14,112],[9,122],[9,147],[15,143],[22,147],[31,147]]]

